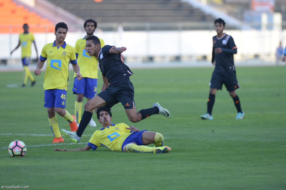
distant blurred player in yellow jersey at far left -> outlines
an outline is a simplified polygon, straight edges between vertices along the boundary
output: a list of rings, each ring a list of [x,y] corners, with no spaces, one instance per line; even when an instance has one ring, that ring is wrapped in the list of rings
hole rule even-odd
[[[30,72],[30,70],[28,68],[28,66],[30,64],[30,60],[31,60],[31,44],[32,44],[32,42],[35,45],[37,59],[38,59],[38,50],[36,47],[34,35],[28,31],[28,29],[29,29],[28,24],[24,24],[23,29],[24,29],[24,32],[19,35],[19,44],[17,45],[17,47],[13,51],[11,51],[11,55],[13,54],[13,52],[15,50],[17,50],[21,46],[21,58],[22,58],[22,63],[23,63],[23,67],[24,67],[22,87],[26,86],[28,78],[30,78],[30,80],[32,81],[32,86],[34,86],[36,83],[35,78],[33,77],[32,73]]]

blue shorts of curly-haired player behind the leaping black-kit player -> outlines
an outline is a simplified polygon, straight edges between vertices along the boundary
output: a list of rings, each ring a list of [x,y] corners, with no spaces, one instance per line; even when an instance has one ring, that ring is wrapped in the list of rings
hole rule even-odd
[[[74,78],[73,93],[84,94],[84,97],[92,99],[96,95],[97,78],[82,78],[80,81]]]

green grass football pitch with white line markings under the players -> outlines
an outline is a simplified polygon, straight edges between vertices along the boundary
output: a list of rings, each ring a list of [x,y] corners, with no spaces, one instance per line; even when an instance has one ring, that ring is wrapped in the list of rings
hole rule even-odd
[[[207,110],[213,68],[132,69],[136,108],[159,102],[170,118],[152,115],[131,123],[123,106],[113,106],[113,122],[164,135],[169,154],[96,151],[54,152],[86,145],[98,127],[87,127],[81,142],[52,144],[44,108],[44,72],[36,86],[21,88],[22,72],[1,72],[0,186],[30,189],[286,189],[286,67],[238,67],[237,90],[245,113],[236,109],[225,87],[216,93],[213,121],[201,120]],[[72,72],[70,73],[72,76]],[[102,80],[98,81],[101,89]],[[66,109],[74,113],[73,80]],[[100,91],[100,90],[98,90]],[[84,101],[86,102],[86,100]],[[60,129],[69,129],[57,115]],[[93,119],[97,121],[96,115]],[[12,158],[8,145],[26,143],[23,158]],[[151,146],[151,145],[150,145]]]

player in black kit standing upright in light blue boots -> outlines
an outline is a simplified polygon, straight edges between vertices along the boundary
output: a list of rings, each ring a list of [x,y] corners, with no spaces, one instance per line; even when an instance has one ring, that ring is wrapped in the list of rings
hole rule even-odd
[[[215,69],[210,80],[210,95],[207,102],[207,113],[201,115],[201,118],[208,120],[213,119],[212,110],[216,91],[222,90],[222,84],[224,84],[226,90],[228,90],[232,97],[238,112],[235,119],[242,119],[244,117],[244,112],[241,110],[240,101],[235,92],[235,89],[240,88],[236,79],[233,61],[233,54],[237,54],[237,47],[232,36],[223,32],[223,29],[225,29],[224,20],[218,18],[214,21],[214,25],[217,35],[213,36],[212,63],[215,66]]]

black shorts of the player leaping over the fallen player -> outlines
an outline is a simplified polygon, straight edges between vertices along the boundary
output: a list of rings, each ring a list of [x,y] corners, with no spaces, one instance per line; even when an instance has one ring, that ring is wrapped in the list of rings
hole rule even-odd
[[[115,104],[121,102],[125,109],[135,108],[134,102],[134,87],[132,82],[127,79],[116,86],[110,86],[101,93],[97,94],[106,103],[108,108],[111,108]]]

